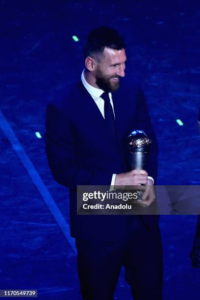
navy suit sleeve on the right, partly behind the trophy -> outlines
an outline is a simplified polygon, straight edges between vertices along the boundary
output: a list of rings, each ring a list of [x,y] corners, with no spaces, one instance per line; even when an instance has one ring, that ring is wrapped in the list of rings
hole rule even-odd
[[[155,184],[157,178],[157,169],[158,169],[158,142],[150,121],[149,110],[141,86],[139,87],[136,109],[137,109],[136,118],[137,118],[138,129],[142,129],[146,131],[148,136],[151,139],[151,147],[150,147],[148,166],[146,171],[148,172],[149,176],[153,177],[154,184]]]

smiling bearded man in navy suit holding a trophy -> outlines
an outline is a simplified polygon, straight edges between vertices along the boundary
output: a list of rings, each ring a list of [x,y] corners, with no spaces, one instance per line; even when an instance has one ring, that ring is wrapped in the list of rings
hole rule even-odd
[[[144,184],[153,205],[157,143],[142,88],[125,76],[125,43],[118,31],[88,35],[85,69],[67,95],[47,107],[46,151],[55,180],[70,189],[71,235],[85,300],[111,300],[122,265],[136,300],[162,299],[162,247],[157,216],[77,215],[77,185]],[[120,88],[119,88],[120,85]],[[145,130],[152,140],[147,170],[129,171],[125,137]],[[148,176],[148,174],[150,176]]]

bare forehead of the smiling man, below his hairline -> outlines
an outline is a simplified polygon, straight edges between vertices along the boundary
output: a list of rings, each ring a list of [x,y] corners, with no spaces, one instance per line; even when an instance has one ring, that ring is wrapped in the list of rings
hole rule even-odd
[[[105,47],[103,54],[103,60],[109,64],[124,63],[126,60],[125,49],[114,50]]]

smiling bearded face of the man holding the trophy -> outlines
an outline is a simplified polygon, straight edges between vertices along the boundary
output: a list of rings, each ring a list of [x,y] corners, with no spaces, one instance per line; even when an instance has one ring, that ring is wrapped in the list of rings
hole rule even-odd
[[[125,50],[106,48],[97,62],[96,84],[105,92],[115,92],[120,86],[120,77],[125,76]]]

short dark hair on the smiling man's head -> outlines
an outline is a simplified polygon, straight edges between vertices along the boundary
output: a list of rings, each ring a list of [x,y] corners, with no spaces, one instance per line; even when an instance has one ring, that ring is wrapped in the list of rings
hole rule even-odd
[[[87,36],[84,47],[84,58],[88,56],[101,55],[105,47],[121,50],[125,48],[124,37],[118,30],[101,26],[93,29]]]

